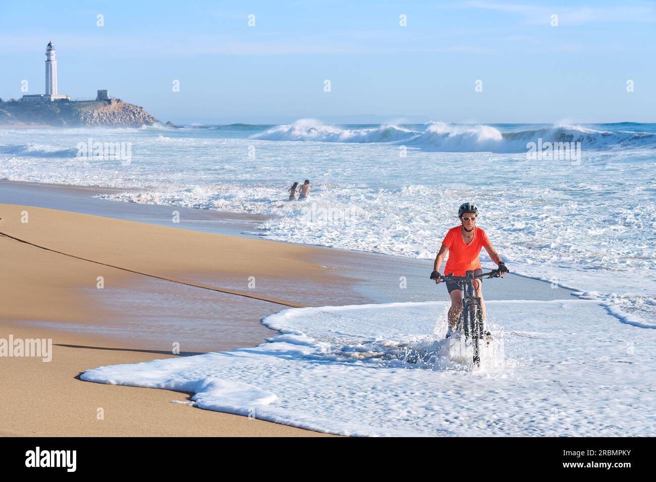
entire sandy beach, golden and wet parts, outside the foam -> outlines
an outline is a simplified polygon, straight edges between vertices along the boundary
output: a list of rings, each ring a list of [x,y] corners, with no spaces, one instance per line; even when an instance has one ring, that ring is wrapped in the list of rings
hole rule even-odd
[[[56,198],[53,202],[62,197],[56,192],[59,188],[53,192],[49,187],[23,185],[20,190],[43,191],[46,197]],[[79,211],[88,211],[85,203],[93,204],[89,197],[87,201],[73,199]],[[146,217],[152,218],[159,209],[133,203],[104,204],[138,212],[127,216],[133,218],[148,212]],[[20,222],[22,211],[29,214],[26,224]],[[260,420],[254,424],[239,415],[189,411],[190,407],[182,409],[180,403],[170,403],[174,399],[184,404],[188,401],[184,393],[109,388],[77,379],[87,369],[174,356],[172,342],[180,342],[180,352],[188,355],[257,346],[276,333],[260,320],[286,308],[162,280],[144,281],[138,273],[112,266],[231,291],[246,291],[247,279],[254,275],[258,292],[304,306],[446,298],[445,291],[436,291],[434,283],[414,281],[423,281],[426,260],[265,243],[267,240],[257,237],[24,205],[0,204],[0,217],[3,233],[111,265],[89,263],[0,236],[5,254],[1,263],[7,274],[0,286],[5,308],[0,338],[9,334],[14,338],[45,337],[52,338],[54,345],[51,363],[0,359],[1,366],[9,367],[2,371],[3,386],[9,387],[1,395],[9,418],[3,435],[320,435]],[[203,258],[208,252],[230,254]],[[381,270],[383,260],[385,269]],[[399,273],[411,280],[411,289],[400,289]],[[104,279],[102,290],[96,288],[98,276]],[[516,298],[522,292],[526,298],[571,297],[569,291],[531,281],[513,281],[511,277],[506,286],[490,283],[486,299]],[[48,397],[43,397],[44,389]],[[34,402],[24,404],[26,397]],[[109,407],[111,424],[96,424],[98,407]],[[165,430],[157,427],[160,416],[167,420]]]

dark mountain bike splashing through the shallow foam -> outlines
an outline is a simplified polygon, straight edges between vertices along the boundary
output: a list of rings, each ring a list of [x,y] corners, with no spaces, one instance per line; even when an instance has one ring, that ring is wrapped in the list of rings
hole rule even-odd
[[[483,330],[483,310],[481,308],[481,298],[474,296],[474,279],[483,279],[484,277],[496,278],[500,277],[499,270],[492,270],[480,275],[474,275],[474,271],[467,271],[464,276],[455,276],[453,273],[449,275],[440,276],[440,283],[442,281],[451,281],[456,283],[462,291],[462,311],[460,318],[456,325],[456,329],[464,332],[466,344],[472,345],[474,352],[474,365],[480,367],[480,340],[486,338],[486,332]],[[506,271],[509,273],[510,271]],[[505,274],[505,273],[504,273]],[[433,275],[430,279],[435,279]]]

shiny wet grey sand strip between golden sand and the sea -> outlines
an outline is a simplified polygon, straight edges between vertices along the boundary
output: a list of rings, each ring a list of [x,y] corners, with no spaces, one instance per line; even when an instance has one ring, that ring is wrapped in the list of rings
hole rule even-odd
[[[0,204],[16,204],[18,201],[33,201],[31,205],[46,209],[58,209],[79,214],[92,214],[117,220],[129,220],[154,224],[155,226],[169,226],[190,230],[195,232],[218,233],[230,235],[242,239],[268,241],[275,245],[291,245],[310,248],[319,263],[331,264],[333,268],[344,270],[353,277],[361,279],[358,284],[358,293],[365,296],[365,302],[395,302],[395,301],[417,301],[420,299],[432,300],[435,298],[434,283],[426,283],[415,286],[419,290],[415,295],[407,296],[409,290],[398,290],[398,278],[394,277],[394,285],[387,287],[380,294],[381,285],[392,282],[380,270],[381,264],[388,266],[388,270],[400,271],[407,275],[417,275],[424,278],[426,272],[432,270],[432,260],[411,258],[394,254],[386,254],[374,251],[356,251],[324,245],[307,243],[291,243],[268,239],[265,231],[258,234],[244,233],[246,231],[257,231],[260,222],[271,218],[262,214],[248,214],[241,212],[211,211],[209,209],[186,208],[168,205],[153,205],[146,203],[127,203],[122,201],[108,201],[91,197],[89,194],[120,192],[122,188],[103,188],[100,186],[76,186],[71,184],[49,184],[39,182],[24,182],[0,180]],[[43,195],[35,195],[41,193]],[[8,199],[9,198],[9,199]],[[62,201],[64,199],[64,201]],[[171,209],[180,212],[180,222],[171,222]],[[0,216],[1,217],[1,216]],[[488,263],[489,264],[489,263]],[[495,266],[490,266],[495,268]],[[537,276],[512,273],[511,278],[520,277],[522,283],[514,287],[516,294],[523,298],[552,300],[556,298],[569,298],[571,293],[577,291],[572,287],[558,285],[547,279]],[[361,289],[360,289],[361,288]],[[492,287],[493,299],[510,299],[505,296],[504,291]],[[393,293],[393,294],[392,294]],[[444,294],[446,291],[444,291]],[[346,302],[350,302],[348,299]]]

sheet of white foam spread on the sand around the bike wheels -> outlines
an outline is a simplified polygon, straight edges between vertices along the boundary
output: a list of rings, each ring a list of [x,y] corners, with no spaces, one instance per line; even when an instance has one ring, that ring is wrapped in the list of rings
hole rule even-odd
[[[447,305],[430,302],[285,310],[264,319],[279,334],[256,348],[81,378],[343,435],[656,435],[656,338],[590,300],[488,304],[506,334],[491,323],[480,369],[443,340]]]

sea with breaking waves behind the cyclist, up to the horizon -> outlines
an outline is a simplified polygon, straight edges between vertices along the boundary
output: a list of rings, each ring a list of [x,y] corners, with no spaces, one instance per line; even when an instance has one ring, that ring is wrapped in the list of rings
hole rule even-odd
[[[131,146],[91,155],[93,143]],[[529,159],[527,145],[580,143]],[[84,150],[80,146],[85,146]],[[102,152],[101,152],[102,153]],[[0,131],[0,178],[125,188],[113,201],[272,216],[269,239],[433,258],[457,207],[515,273],[656,326],[656,125],[191,125]],[[286,202],[309,179],[308,201]],[[483,262],[489,257],[482,252]],[[584,294],[585,293],[585,294]]]

